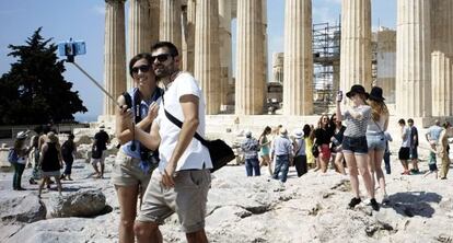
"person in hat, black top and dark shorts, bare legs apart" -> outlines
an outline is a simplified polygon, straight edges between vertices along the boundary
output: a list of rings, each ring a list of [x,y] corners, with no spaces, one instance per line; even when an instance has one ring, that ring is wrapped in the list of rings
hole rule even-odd
[[[58,137],[54,131],[46,136],[45,143],[40,148],[39,164],[42,169],[42,181],[39,183],[38,197],[43,190],[44,184],[50,178],[55,177],[57,182],[58,193],[61,196],[60,169],[62,167],[61,147]]]

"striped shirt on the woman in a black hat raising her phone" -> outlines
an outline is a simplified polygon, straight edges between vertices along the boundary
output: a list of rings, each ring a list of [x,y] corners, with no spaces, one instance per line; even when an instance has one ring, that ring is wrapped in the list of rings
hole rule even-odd
[[[346,111],[342,114],[342,117],[346,120],[345,136],[352,138],[363,137],[367,134],[368,121],[371,118],[371,107],[368,105],[360,105],[353,107],[352,111],[355,113],[360,113],[362,117],[361,119],[355,119],[349,111]]]

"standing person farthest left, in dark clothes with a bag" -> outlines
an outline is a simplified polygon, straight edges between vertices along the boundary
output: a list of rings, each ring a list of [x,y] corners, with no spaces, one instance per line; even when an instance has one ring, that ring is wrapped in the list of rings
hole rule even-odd
[[[25,164],[31,151],[31,148],[26,146],[27,136],[28,131],[20,131],[18,134],[14,146],[11,148],[11,157],[9,155],[8,158],[14,167],[13,190],[25,190],[22,187],[22,174],[24,173]]]

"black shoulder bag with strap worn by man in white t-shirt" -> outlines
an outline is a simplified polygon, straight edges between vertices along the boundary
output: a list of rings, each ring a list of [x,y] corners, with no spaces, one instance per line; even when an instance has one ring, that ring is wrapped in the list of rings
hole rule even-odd
[[[164,112],[170,121],[179,128],[183,127],[183,123],[179,119],[170,114],[165,108]],[[198,135],[198,132],[195,132],[194,137],[209,150],[209,155],[211,157],[212,161],[212,169],[210,170],[211,173],[223,167],[228,162],[236,158],[231,147],[221,139],[206,140],[200,135]]]

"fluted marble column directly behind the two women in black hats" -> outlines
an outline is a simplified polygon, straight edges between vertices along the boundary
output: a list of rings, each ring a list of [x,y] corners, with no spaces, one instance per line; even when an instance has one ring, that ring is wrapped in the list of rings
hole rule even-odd
[[[341,1],[340,89],[371,88],[371,1]]]

